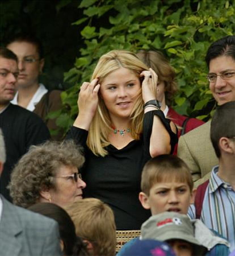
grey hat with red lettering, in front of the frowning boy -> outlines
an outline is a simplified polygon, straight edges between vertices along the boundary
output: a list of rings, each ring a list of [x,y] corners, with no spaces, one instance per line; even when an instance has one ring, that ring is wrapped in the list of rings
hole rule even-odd
[[[141,239],[183,240],[191,243],[194,253],[203,255],[207,248],[194,237],[194,226],[186,214],[163,212],[151,216],[141,226]]]

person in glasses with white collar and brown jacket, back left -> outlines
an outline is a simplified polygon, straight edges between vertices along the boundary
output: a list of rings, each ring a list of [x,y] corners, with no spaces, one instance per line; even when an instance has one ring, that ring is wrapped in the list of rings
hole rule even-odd
[[[32,35],[16,35],[7,44],[18,57],[18,92],[12,104],[22,106],[43,119],[48,129],[52,131],[52,139],[61,140],[62,132],[56,131],[58,127],[55,119],[48,119],[49,112],[62,108],[60,90],[51,92],[39,83],[39,75],[43,71],[43,47],[39,39]]]

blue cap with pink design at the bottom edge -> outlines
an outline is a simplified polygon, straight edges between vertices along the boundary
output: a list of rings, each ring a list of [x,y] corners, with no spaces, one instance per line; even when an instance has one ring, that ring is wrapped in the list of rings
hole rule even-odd
[[[121,253],[122,256],[175,256],[174,251],[165,242],[156,240],[137,240]]]

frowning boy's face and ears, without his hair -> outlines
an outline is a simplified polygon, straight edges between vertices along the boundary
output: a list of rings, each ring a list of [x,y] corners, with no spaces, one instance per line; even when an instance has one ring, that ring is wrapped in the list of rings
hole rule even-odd
[[[142,207],[150,209],[152,215],[162,212],[178,212],[187,214],[188,207],[194,203],[195,190],[190,192],[187,183],[160,182],[150,188],[149,196],[140,192]]]

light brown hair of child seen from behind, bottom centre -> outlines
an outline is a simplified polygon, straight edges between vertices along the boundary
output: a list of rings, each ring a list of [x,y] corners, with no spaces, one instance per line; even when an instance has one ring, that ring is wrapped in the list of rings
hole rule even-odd
[[[76,234],[92,243],[95,255],[115,255],[116,226],[112,209],[99,199],[87,198],[66,205]]]

